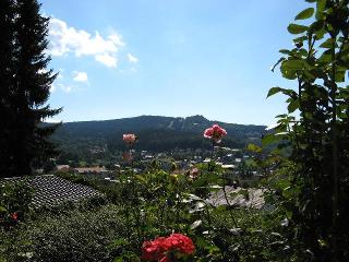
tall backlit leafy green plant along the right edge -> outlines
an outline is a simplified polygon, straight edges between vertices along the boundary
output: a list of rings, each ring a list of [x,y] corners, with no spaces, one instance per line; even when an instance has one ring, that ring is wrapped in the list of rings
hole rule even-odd
[[[287,141],[291,154],[274,176],[272,199],[281,203],[298,260],[347,261],[349,164],[349,2],[312,0],[290,24],[294,48],[280,50],[282,76],[294,90],[270,88],[287,96],[288,114],[278,117],[275,140]],[[293,112],[299,112],[296,116]],[[273,135],[266,138],[273,142]],[[287,174],[289,172],[289,174]]]

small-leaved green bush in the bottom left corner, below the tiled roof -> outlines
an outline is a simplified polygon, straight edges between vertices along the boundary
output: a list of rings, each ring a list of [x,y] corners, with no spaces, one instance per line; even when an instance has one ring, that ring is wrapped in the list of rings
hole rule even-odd
[[[7,233],[2,252],[8,261],[110,261],[108,246],[125,235],[122,230],[115,205],[55,217],[43,214]]]

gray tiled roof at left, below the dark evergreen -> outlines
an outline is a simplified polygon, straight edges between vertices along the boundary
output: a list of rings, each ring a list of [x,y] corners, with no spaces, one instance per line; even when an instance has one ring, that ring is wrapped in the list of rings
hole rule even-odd
[[[73,183],[67,179],[41,175],[22,178],[5,178],[0,180],[0,186],[5,182],[23,181],[34,189],[31,206],[52,207],[65,202],[77,202],[84,199],[104,196],[98,191],[80,183]]]

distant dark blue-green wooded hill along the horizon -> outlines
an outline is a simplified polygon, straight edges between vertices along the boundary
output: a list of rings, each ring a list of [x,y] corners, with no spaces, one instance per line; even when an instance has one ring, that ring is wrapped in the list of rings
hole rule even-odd
[[[264,126],[236,124],[210,121],[203,116],[172,118],[159,116],[141,116],[105,121],[82,121],[63,123],[52,140],[63,151],[115,152],[124,147],[123,133],[139,135],[137,147],[155,152],[173,148],[209,148],[210,144],[203,138],[203,131],[218,123],[228,132],[225,146],[243,147],[249,140],[258,140],[265,132]]]

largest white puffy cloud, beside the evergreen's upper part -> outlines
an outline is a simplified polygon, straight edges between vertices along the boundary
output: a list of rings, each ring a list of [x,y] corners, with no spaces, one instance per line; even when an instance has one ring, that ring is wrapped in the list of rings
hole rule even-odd
[[[107,67],[117,67],[116,55],[124,46],[121,35],[116,33],[103,37],[99,32],[94,35],[83,29],[69,26],[64,21],[52,17],[50,20],[50,55],[76,57],[94,56]]]

